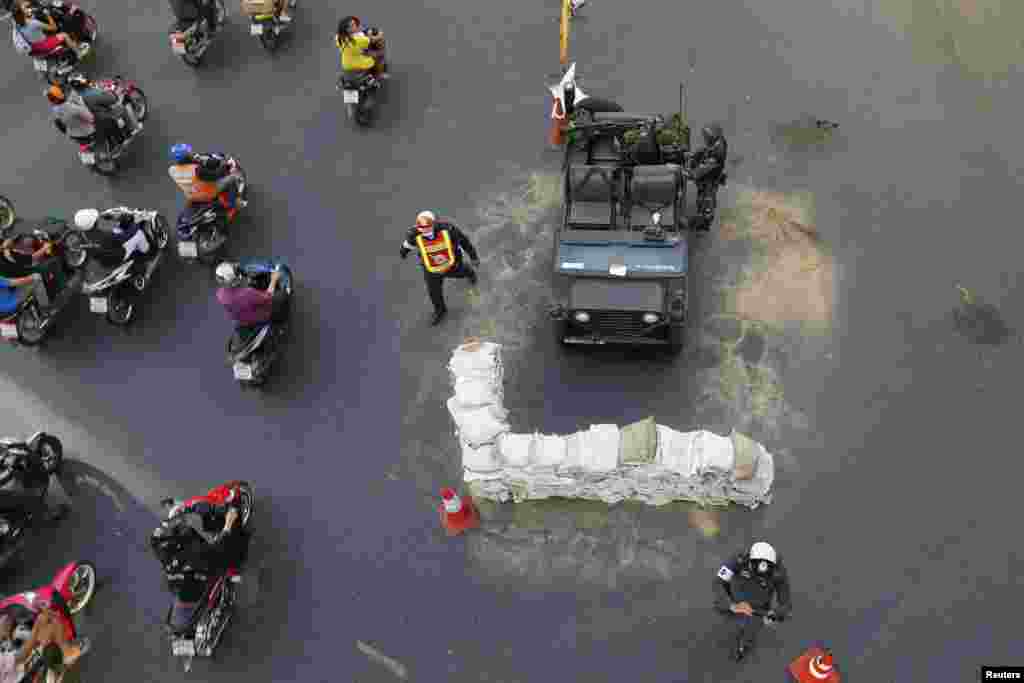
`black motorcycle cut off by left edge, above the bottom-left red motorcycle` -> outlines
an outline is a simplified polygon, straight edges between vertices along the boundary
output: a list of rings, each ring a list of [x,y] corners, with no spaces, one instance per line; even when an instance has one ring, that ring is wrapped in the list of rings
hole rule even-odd
[[[59,475],[62,466],[63,445],[52,434],[40,431],[25,440],[0,438],[0,488],[15,483],[18,490],[45,499],[50,476]],[[22,550],[36,521],[32,512],[0,511],[0,566]]]

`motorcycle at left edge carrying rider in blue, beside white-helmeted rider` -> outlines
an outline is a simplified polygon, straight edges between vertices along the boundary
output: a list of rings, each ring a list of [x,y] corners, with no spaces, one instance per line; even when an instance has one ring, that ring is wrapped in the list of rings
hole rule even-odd
[[[48,222],[63,225],[62,231],[34,230],[31,236],[22,237],[17,248],[29,253],[40,249],[45,242],[54,244],[53,257],[39,268],[51,305],[43,310],[34,294],[18,301],[16,294],[10,290],[7,290],[6,296],[0,293],[0,339],[20,342],[26,346],[40,344],[82,283],[82,266],[87,257],[82,248],[82,234],[68,228],[63,221],[51,218]]]

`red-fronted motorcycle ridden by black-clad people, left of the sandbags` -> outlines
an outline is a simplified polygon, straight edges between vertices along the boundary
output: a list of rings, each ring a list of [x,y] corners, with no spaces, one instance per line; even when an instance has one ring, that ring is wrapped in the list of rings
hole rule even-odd
[[[205,496],[197,496],[182,502],[172,499],[162,501],[167,508],[167,519],[197,503],[222,505],[238,499],[241,513],[239,523],[242,532],[249,532],[252,525],[255,504],[253,487],[246,481],[230,481],[211,489]],[[173,577],[173,580],[170,580]],[[171,653],[185,657],[185,671],[191,667],[196,656],[213,656],[213,651],[231,620],[234,607],[236,587],[241,577],[228,570],[217,577],[196,574],[184,579],[182,573],[171,574],[168,584],[174,593],[174,602],[167,610],[164,627],[171,641]],[[196,595],[198,599],[183,596]]]

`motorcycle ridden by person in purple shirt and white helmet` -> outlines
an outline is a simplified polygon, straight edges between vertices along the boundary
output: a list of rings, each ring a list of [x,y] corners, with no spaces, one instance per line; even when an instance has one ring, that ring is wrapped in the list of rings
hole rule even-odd
[[[227,340],[227,364],[231,366],[234,379],[242,386],[260,386],[266,382],[267,374],[281,355],[282,343],[288,335],[293,291],[292,271],[276,260],[250,261],[240,267],[249,272],[260,270],[260,278],[266,276],[267,283],[255,285],[257,287],[266,287],[270,273],[282,273],[278,287],[285,296],[281,309],[274,311],[273,318],[262,325],[236,328]]]

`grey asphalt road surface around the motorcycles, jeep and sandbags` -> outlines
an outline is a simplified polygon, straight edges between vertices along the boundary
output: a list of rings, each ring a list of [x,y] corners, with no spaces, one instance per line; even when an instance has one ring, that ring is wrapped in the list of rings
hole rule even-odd
[[[394,680],[357,639],[415,681],[782,680],[816,639],[850,680],[964,681],[982,664],[1020,664],[1020,346],[1016,335],[973,345],[950,314],[959,283],[1021,326],[1022,54],[1005,28],[1021,10],[990,3],[999,20],[971,24],[955,13],[976,3],[935,4],[595,1],[575,25],[589,92],[668,112],[689,74],[690,117],[720,118],[741,159],[723,206],[743,185],[815,197],[837,264],[831,334],[768,337],[788,408],[757,421],[700,400],[710,298],[678,359],[555,348],[543,315],[552,214],[519,199],[531,173],[556,168],[542,145],[552,3],[374,7],[366,18],[388,34],[395,76],[366,132],[333,88],[340,10],[302,5],[273,57],[236,15],[193,72],[166,46],[165,7],[157,19],[86,5],[104,38],[92,73],[137,79],[154,112],[114,180],[78,164],[8,48],[0,191],[23,215],[124,204],[173,217],[165,153],[187,139],[249,174],[230,253],[284,257],[298,288],[294,346],[263,393],[222,365],[211,274],[173,258],[131,330],[82,301],[44,349],[0,349],[4,433],[55,423],[87,463],[66,476],[74,521],[3,590],[95,558],[108,583],[86,616],[85,676],[181,680],[142,539],[160,498],[244,477],[260,498],[245,604],[195,680]],[[841,135],[813,153],[772,142],[805,114],[839,121]],[[440,331],[425,327],[420,275],[397,259],[401,229],[428,206],[484,253],[479,296],[450,285]],[[717,244],[694,257],[709,278]],[[481,532],[444,539],[432,506],[459,464],[443,364],[481,333],[508,346],[517,429],[738,422],[780,454],[775,502],[721,515],[714,539],[684,509],[629,506],[488,508]],[[737,668],[710,582],[755,537],[786,556],[797,617]]]

